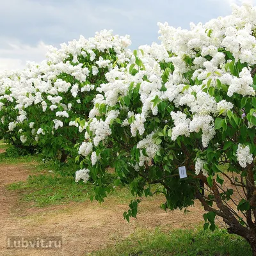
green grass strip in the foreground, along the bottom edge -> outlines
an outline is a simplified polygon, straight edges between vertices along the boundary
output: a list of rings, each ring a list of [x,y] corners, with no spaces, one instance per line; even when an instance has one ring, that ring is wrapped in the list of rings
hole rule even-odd
[[[136,231],[130,237],[104,250],[90,253],[93,256],[250,256],[250,246],[243,238],[227,234],[225,230],[172,230],[169,233],[156,229]]]

